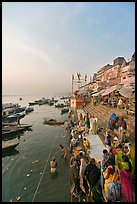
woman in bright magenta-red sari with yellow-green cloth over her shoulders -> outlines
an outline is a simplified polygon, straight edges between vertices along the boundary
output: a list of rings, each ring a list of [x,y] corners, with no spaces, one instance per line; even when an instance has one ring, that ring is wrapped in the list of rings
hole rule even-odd
[[[134,202],[133,186],[132,186],[132,166],[126,155],[122,156],[122,169],[120,170],[121,184],[121,201]]]

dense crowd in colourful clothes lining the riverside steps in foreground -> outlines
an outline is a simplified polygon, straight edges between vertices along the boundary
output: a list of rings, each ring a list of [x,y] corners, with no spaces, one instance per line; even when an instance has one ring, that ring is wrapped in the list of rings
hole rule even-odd
[[[105,135],[102,161],[90,157],[91,145],[86,135],[98,131],[97,118],[82,113],[77,117],[70,112],[66,130],[70,133],[69,149],[60,145],[64,159],[70,153],[70,192],[79,198],[85,195],[87,201],[133,202],[133,178],[135,177],[135,145],[126,144],[124,135],[126,122],[115,113],[110,116]],[[119,131],[119,138],[112,137],[110,130]],[[91,149],[92,150],[92,149]],[[103,186],[101,186],[101,175]],[[102,187],[105,198],[102,194]]]

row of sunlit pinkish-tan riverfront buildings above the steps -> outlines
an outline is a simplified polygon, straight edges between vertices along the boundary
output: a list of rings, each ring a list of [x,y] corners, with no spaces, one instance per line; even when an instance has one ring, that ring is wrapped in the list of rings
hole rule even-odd
[[[110,86],[124,83],[135,77],[135,53],[129,62],[124,57],[117,57],[113,61],[113,65],[107,64],[99,69],[93,75],[93,81],[79,87],[79,93],[100,91]],[[92,91],[91,91],[92,90]]]

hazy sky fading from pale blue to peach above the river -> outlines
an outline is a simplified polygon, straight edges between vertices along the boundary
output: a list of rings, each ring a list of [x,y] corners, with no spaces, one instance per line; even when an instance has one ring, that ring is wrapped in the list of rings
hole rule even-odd
[[[71,91],[134,51],[134,2],[2,3],[2,94]]]

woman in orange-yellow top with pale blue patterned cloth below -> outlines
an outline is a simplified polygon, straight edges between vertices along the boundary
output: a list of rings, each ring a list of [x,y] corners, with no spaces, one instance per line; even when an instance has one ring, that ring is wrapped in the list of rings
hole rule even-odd
[[[105,178],[104,191],[107,201],[117,201],[120,199],[120,185],[118,183],[118,167],[110,165],[103,173]]]

